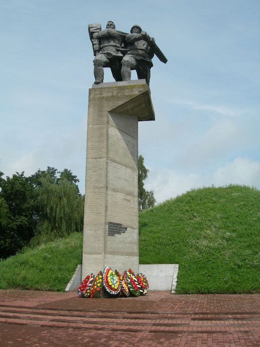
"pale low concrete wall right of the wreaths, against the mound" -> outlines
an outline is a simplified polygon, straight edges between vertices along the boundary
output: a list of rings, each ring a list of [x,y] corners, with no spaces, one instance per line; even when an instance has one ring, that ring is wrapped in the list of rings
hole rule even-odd
[[[178,264],[140,264],[139,272],[148,279],[150,291],[175,293],[178,268]]]

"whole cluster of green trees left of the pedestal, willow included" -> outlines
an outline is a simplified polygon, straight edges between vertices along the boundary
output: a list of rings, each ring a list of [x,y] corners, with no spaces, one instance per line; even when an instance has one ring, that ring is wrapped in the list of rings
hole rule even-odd
[[[16,254],[30,241],[38,244],[83,230],[84,197],[70,170],[48,166],[29,177],[24,172],[2,176],[0,172],[0,258]]]

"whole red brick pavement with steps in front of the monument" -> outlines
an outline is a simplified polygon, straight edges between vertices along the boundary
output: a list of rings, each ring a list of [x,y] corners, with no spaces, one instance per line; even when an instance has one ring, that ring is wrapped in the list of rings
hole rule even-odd
[[[0,347],[256,347],[260,294],[84,299],[0,291]]]

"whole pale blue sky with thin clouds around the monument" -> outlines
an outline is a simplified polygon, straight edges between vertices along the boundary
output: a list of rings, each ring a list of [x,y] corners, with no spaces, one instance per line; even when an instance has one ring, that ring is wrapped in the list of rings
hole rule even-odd
[[[260,189],[259,18],[259,0],[1,1],[0,170],[68,168],[84,193],[87,25],[113,20],[140,24],[168,58],[153,59],[156,121],[139,123],[157,202],[212,184]]]

